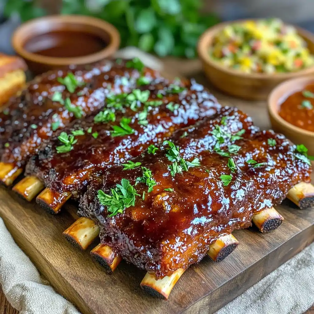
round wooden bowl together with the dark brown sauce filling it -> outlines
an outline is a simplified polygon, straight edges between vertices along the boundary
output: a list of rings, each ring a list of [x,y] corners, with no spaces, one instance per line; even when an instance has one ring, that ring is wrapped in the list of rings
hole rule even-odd
[[[73,41],[73,46],[69,46],[70,41]],[[52,15],[22,24],[14,32],[12,44],[30,70],[38,74],[71,64],[93,64],[111,57],[119,48],[120,34],[113,25],[100,19],[80,15]],[[54,49],[57,45],[64,45],[67,49],[62,52],[45,50]]]

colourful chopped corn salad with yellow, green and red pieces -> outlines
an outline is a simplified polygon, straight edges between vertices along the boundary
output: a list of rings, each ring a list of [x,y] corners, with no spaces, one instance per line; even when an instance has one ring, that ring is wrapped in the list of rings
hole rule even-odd
[[[230,24],[215,36],[209,53],[225,67],[245,73],[295,72],[314,64],[297,30],[280,19]]]

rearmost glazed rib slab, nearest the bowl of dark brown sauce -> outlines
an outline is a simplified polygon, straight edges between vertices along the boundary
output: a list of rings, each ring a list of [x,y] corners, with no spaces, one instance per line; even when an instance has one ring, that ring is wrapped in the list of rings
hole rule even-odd
[[[52,71],[30,82],[0,114],[0,180],[12,184],[44,140],[104,106],[109,93],[132,91],[138,78],[160,78],[153,70],[141,67],[139,71],[128,62]]]

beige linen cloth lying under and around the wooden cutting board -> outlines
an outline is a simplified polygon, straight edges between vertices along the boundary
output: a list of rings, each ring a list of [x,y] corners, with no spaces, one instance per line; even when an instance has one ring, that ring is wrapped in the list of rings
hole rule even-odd
[[[134,47],[118,51],[116,55],[135,56],[151,68],[162,68],[160,60]],[[70,302],[40,277],[1,218],[0,284],[9,302],[20,314],[79,314]],[[301,314],[313,303],[314,243],[215,314]],[[205,309],[202,314],[208,311]]]

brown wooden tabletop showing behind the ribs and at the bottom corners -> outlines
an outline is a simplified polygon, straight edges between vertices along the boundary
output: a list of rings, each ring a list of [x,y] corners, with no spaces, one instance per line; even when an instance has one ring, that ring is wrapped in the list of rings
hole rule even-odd
[[[196,80],[208,86],[209,89],[213,90],[213,88],[208,84],[206,81],[202,71],[201,71],[201,65],[198,60],[179,60],[175,58],[166,58],[164,59],[165,64],[165,71],[170,73],[169,69],[173,69],[175,73],[181,73],[181,76],[188,77],[188,78],[196,78]],[[224,94],[221,94],[217,91],[214,91],[214,95],[217,96],[219,100],[223,100],[224,104],[229,103],[232,106],[238,106],[241,103],[243,104],[243,100],[236,99],[234,97],[230,97]],[[251,115],[250,111],[254,111],[258,109],[261,112],[260,115],[260,121],[259,125],[265,125],[265,127],[269,126],[268,122],[268,114],[267,114],[267,107],[266,107],[266,101],[245,101],[245,103],[248,105],[251,105],[248,110],[246,110],[246,113],[248,115]],[[254,109],[255,107],[255,109]],[[3,294],[3,291],[0,287],[0,314],[17,314],[18,311],[15,310],[8,302],[6,297]],[[46,314],[46,313],[43,313]],[[314,314],[314,305],[306,312],[306,314]]]

